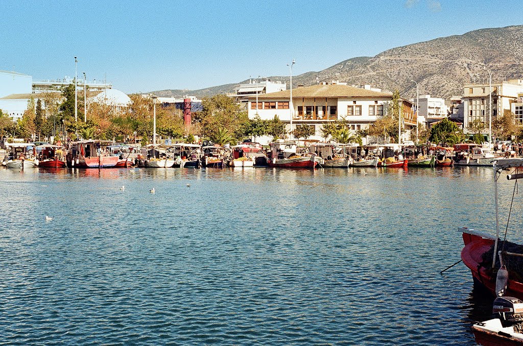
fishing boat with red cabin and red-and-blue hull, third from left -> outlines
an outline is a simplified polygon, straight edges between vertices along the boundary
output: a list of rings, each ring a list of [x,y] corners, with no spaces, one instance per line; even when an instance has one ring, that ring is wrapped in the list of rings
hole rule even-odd
[[[109,140],[84,139],[71,142],[67,153],[67,164],[74,168],[112,168],[118,163],[117,156],[111,156],[105,148]]]

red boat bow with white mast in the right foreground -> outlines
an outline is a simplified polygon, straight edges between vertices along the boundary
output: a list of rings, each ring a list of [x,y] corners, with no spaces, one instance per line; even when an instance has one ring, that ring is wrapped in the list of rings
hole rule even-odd
[[[523,159],[499,159],[494,161],[494,193],[496,209],[496,235],[478,232],[468,228],[460,228],[464,247],[461,250],[463,263],[471,270],[475,284],[496,295],[500,290],[500,268],[508,275],[504,283],[503,294],[523,299],[523,246],[499,240],[498,219],[498,178],[503,170],[516,168],[516,174],[509,174],[509,180],[523,178],[517,173],[517,168],[523,167]],[[510,214],[509,214],[510,215]],[[508,221],[507,221],[508,224]],[[506,235],[505,235],[506,236]]]

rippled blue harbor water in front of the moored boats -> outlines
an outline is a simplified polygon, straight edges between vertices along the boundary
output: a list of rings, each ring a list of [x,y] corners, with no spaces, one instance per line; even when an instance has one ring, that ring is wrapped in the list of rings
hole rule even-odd
[[[0,343],[473,345],[492,174],[1,169]]]

